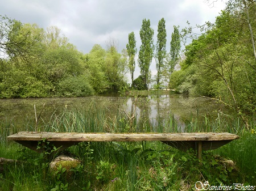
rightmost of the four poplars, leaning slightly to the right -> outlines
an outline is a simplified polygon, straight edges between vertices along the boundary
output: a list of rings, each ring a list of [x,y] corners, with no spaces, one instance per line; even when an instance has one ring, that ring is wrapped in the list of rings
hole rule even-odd
[[[170,84],[170,77],[172,72],[174,71],[174,67],[179,61],[179,54],[180,54],[180,33],[179,33],[179,26],[174,26],[174,32],[172,32],[172,39],[171,39],[171,48],[170,53],[168,54],[167,62],[166,62],[166,70],[169,79],[169,88],[171,87]]]

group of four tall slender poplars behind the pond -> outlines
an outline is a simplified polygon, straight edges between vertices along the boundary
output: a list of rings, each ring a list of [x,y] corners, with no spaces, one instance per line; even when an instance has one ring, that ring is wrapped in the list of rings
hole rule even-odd
[[[175,65],[179,62],[181,48],[181,35],[179,26],[174,26],[174,32],[171,36],[170,52],[167,53],[167,32],[166,21],[164,18],[158,22],[158,34],[156,45],[154,45],[154,29],[150,27],[150,20],[143,19],[142,28],[139,31],[141,37],[141,46],[138,54],[138,66],[141,75],[134,79],[135,55],[137,53],[136,40],[134,32],[129,33],[129,43],[126,45],[129,56],[129,69],[131,74],[131,87],[137,90],[148,90],[150,84],[152,88],[170,88],[170,77],[174,71]],[[157,74],[152,78],[150,65],[152,58],[156,61]]]

